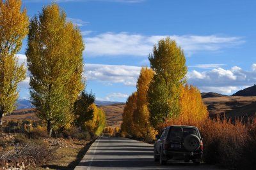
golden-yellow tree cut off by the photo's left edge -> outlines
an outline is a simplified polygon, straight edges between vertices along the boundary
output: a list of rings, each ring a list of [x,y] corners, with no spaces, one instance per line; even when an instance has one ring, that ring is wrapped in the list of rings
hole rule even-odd
[[[20,0],[0,1],[0,125],[3,115],[15,108],[17,85],[26,78],[24,64],[19,66],[15,57],[29,25],[26,10],[20,7]]]

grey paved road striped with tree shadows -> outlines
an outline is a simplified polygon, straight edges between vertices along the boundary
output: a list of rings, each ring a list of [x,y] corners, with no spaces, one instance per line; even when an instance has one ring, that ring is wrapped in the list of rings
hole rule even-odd
[[[153,145],[126,138],[97,139],[75,170],[82,169],[218,169],[215,166],[194,166],[193,163],[168,162],[159,166],[153,160]]]

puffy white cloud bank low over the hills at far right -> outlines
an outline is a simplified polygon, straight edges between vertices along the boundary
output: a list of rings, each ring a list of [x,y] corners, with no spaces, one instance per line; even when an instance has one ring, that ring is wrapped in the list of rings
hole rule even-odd
[[[237,66],[231,69],[214,68],[202,72],[193,70],[188,72],[187,78],[189,84],[195,85],[202,92],[231,94],[234,90],[255,84],[256,71],[255,69],[245,71]]]

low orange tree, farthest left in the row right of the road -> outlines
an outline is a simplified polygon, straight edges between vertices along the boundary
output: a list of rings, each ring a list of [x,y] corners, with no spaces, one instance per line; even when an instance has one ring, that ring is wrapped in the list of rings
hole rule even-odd
[[[124,107],[124,112],[122,114],[123,117],[123,122],[121,124],[121,131],[128,133],[128,134],[133,134],[133,113],[134,110],[136,110],[136,103],[137,103],[137,92],[132,93],[131,96],[128,97],[125,107]]]

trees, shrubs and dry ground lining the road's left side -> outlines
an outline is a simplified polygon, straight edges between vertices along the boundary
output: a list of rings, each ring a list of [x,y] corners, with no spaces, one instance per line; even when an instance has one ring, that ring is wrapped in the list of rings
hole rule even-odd
[[[85,90],[81,32],[56,3],[30,21],[20,8],[20,0],[0,1],[0,169],[74,169],[106,125],[94,94]],[[40,120],[2,122],[26,78],[16,53],[27,35],[31,103]]]

